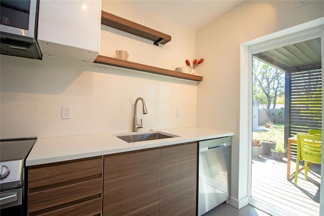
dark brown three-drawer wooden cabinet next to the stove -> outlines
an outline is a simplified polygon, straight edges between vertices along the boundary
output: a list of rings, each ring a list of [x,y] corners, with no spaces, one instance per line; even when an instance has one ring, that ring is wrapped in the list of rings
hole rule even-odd
[[[100,215],[102,157],[31,166],[29,215]]]

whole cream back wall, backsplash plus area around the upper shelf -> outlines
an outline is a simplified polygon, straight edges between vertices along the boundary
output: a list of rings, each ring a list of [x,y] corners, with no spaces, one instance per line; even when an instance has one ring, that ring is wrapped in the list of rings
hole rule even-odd
[[[170,34],[172,41],[157,47],[102,26],[101,55],[115,57],[115,49],[127,50],[130,61],[171,70],[193,59],[192,29],[125,4],[103,1],[102,10]],[[131,131],[137,97],[148,109],[142,115],[139,102],[142,130],[196,126],[193,81],[49,56],[39,61],[1,55],[0,88],[1,138]],[[72,119],[61,119],[62,105],[72,106]]]

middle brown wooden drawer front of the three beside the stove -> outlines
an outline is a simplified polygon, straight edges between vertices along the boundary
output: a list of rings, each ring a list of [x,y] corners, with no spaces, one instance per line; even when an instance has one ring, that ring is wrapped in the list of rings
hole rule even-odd
[[[44,187],[28,194],[28,212],[65,204],[102,193],[102,178],[62,187]]]

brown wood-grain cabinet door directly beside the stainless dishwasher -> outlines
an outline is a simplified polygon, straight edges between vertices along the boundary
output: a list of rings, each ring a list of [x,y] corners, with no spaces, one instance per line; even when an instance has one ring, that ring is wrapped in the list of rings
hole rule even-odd
[[[197,143],[160,149],[159,215],[196,215]]]

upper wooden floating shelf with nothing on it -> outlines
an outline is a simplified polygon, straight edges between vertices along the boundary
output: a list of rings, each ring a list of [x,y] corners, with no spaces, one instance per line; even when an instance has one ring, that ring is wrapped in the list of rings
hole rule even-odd
[[[171,41],[171,36],[168,34],[156,31],[116,15],[109,14],[105,11],[101,11],[101,24],[151,40],[154,42],[154,45],[157,46],[158,44],[166,44]]]

